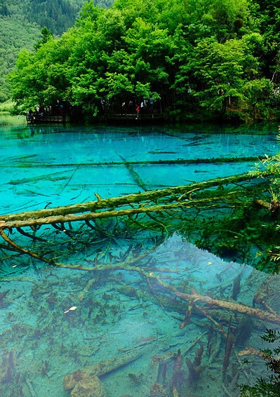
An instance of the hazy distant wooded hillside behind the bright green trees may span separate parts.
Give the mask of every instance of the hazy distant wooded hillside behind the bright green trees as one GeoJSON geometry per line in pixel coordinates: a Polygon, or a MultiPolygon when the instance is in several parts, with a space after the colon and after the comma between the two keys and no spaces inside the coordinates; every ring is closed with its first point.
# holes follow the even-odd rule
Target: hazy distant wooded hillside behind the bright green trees
{"type": "MultiPolygon", "coordinates": [[[[18,53],[32,50],[42,27],[60,36],[72,27],[84,0],[0,0],[0,103],[10,97],[6,75],[18,53]]],[[[97,1],[107,8],[112,0],[97,1]]]]}

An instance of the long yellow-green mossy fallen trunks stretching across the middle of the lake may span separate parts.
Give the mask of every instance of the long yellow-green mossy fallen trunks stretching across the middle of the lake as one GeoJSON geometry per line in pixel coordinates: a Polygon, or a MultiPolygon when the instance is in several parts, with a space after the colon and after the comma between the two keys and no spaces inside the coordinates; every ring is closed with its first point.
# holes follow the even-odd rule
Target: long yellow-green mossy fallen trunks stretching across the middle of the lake
{"type": "Polygon", "coordinates": [[[265,172],[259,173],[256,176],[253,176],[251,173],[246,173],[234,175],[232,177],[216,178],[214,180],[187,184],[184,186],[145,191],[138,194],[128,194],[127,196],[119,196],[115,198],[102,199],[100,196],[98,196],[98,194],[95,194],[98,199],[95,201],[88,201],[87,203],[77,203],[70,206],[60,206],[36,211],[26,211],[22,213],[2,215],[0,216],[0,229],[11,229],[14,227],[36,227],[42,224],[56,224],[83,220],[88,221],[95,218],[133,215],[137,213],[148,213],[152,211],[180,208],[183,206],[194,206],[196,205],[195,200],[185,201],[187,195],[191,194],[194,190],[198,191],[225,184],[234,184],[251,180],[257,176],[260,177],[265,175],[265,172]],[[175,201],[175,203],[156,203],[156,205],[151,205],[151,201],[155,203],[160,198],[168,196],[171,196],[170,202],[175,201]],[[139,207],[124,208],[124,206],[131,206],[133,204],[138,204],[139,207]],[[102,211],[94,212],[97,210],[102,211]]]}

